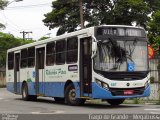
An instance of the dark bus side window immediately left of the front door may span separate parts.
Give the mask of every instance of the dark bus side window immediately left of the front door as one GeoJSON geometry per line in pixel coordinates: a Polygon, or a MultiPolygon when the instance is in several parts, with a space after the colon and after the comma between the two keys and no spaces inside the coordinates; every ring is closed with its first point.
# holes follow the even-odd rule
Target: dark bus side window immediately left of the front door
{"type": "Polygon", "coordinates": [[[78,38],[73,37],[67,39],[67,63],[76,63],[78,57],[78,38]]]}

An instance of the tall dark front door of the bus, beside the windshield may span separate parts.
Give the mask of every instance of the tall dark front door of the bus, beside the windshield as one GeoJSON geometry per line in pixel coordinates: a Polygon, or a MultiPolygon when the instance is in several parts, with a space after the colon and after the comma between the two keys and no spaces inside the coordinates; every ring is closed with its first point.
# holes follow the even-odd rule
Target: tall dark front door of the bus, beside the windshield
{"type": "Polygon", "coordinates": [[[91,37],[80,39],[80,85],[81,96],[92,93],[91,37]]]}

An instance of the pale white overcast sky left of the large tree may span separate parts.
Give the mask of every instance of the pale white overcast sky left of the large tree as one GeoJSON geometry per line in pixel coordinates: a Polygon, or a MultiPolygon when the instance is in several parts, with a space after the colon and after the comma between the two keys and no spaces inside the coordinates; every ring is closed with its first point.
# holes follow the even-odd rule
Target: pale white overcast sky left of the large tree
{"type": "Polygon", "coordinates": [[[1,32],[22,38],[20,32],[32,31],[26,37],[33,40],[38,40],[44,36],[56,36],[57,29],[49,30],[42,22],[45,18],[44,14],[52,11],[51,3],[54,0],[8,1],[10,1],[9,5],[4,10],[0,10],[0,23],[6,26],[6,29],[1,30],[1,32]]]}

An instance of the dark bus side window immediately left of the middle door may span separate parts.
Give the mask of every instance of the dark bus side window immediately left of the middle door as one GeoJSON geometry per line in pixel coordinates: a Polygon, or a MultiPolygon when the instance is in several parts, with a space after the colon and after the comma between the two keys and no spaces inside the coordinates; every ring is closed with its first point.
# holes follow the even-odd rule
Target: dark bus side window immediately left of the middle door
{"type": "Polygon", "coordinates": [[[35,47],[28,48],[28,67],[35,66],[35,47]]]}

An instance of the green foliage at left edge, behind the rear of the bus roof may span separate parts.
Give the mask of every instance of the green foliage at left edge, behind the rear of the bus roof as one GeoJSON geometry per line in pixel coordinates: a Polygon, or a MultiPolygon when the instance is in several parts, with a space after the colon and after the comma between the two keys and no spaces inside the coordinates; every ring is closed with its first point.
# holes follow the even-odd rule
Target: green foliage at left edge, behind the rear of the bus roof
{"type": "Polygon", "coordinates": [[[0,67],[5,67],[6,53],[8,49],[31,42],[33,41],[15,38],[11,34],[5,34],[0,32],[0,67]]]}

